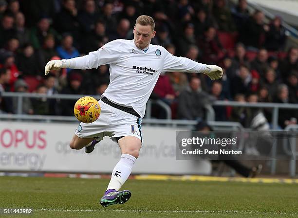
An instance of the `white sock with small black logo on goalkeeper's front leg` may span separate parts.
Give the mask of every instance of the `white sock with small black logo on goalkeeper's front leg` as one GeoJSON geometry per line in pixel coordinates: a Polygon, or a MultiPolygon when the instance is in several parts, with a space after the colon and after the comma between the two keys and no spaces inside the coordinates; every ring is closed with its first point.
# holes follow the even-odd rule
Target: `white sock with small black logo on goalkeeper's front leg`
{"type": "Polygon", "coordinates": [[[131,173],[131,168],[135,163],[136,158],[130,154],[122,154],[120,161],[115,165],[112,178],[107,190],[115,189],[118,191],[124,182],[128,179],[131,173]]]}

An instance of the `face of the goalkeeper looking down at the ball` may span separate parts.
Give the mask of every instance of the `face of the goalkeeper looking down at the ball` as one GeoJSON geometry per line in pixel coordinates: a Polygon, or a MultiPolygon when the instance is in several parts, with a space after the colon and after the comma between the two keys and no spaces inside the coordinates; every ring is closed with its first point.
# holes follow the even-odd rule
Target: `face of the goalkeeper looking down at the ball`
{"type": "Polygon", "coordinates": [[[133,40],[136,47],[145,49],[149,46],[151,39],[155,36],[155,31],[152,31],[151,26],[142,26],[136,24],[133,28],[133,40]]]}

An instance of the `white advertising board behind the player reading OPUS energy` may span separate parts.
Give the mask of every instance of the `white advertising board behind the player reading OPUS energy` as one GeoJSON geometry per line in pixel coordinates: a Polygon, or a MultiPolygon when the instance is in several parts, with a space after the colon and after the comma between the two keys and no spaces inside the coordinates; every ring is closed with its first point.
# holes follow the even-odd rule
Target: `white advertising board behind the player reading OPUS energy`
{"type": "MultiPolygon", "coordinates": [[[[0,121],[0,171],[111,173],[121,156],[118,145],[104,138],[94,151],[72,150],[77,124],[0,121]]],[[[143,145],[135,174],[210,174],[211,165],[177,161],[175,128],[142,127],[143,145]]]]}

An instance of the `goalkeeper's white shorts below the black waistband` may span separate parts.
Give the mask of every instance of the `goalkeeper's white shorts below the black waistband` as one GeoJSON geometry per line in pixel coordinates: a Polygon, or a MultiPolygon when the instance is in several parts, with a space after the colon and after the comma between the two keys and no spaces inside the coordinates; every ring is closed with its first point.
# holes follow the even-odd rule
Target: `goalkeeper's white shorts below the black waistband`
{"type": "Polygon", "coordinates": [[[130,113],[98,101],[100,105],[99,118],[93,123],[81,123],[75,130],[75,135],[80,138],[98,138],[102,140],[104,136],[112,139],[123,136],[135,136],[142,141],[141,123],[142,119],[130,113]]]}

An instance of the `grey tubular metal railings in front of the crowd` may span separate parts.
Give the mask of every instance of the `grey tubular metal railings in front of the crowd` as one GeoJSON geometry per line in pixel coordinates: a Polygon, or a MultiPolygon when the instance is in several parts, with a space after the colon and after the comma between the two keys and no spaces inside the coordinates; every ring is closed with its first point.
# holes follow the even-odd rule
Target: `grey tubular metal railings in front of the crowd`
{"type": "MultiPolygon", "coordinates": [[[[82,97],[82,95],[68,95],[68,94],[54,94],[54,95],[46,95],[46,94],[37,94],[37,93],[19,93],[19,92],[3,92],[3,97],[17,97],[18,98],[18,114],[0,114],[1,120],[17,120],[17,121],[38,121],[38,122],[46,122],[46,123],[55,123],[55,122],[77,122],[74,116],[46,116],[46,115],[27,115],[27,114],[21,114],[22,109],[22,101],[24,97],[30,97],[30,98],[50,98],[50,99],[78,99],[82,97]]],[[[98,96],[93,96],[98,99],[98,96]]],[[[162,102],[160,100],[157,100],[156,102],[162,102]]],[[[152,101],[149,100],[149,103],[147,104],[147,113],[150,111],[152,101]]],[[[157,103],[159,104],[159,103],[157,103]]],[[[232,102],[232,101],[215,101],[213,105],[216,106],[236,106],[236,107],[248,107],[248,108],[271,108],[273,109],[272,113],[272,129],[277,130],[278,127],[278,114],[279,109],[297,109],[298,104],[279,104],[279,103],[239,103],[239,102],[232,102]]],[[[197,121],[189,121],[189,120],[170,120],[171,117],[170,109],[168,105],[166,105],[164,102],[160,104],[161,107],[165,107],[165,111],[167,111],[167,119],[161,120],[161,119],[150,119],[150,112],[149,115],[145,115],[145,119],[143,119],[143,124],[148,126],[165,126],[165,127],[184,127],[186,129],[192,129],[193,126],[197,123],[197,121]],[[168,108],[167,108],[168,107],[168,108]]],[[[214,110],[211,106],[205,107],[207,111],[207,119],[208,123],[219,128],[230,128],[233,130],[242,129],[243,127],[239,123],[233,123],[233,122],[215,122],[215,114],[214,110]]],[[[284,149],[286,149],[284,147],[284,149]]],[[[272,150],[272,157],[274,157],[276,152],[276,147],[273,146],[272,150]]],[[[294,161],[295,163],[295,161],[294,161]]],[[[290,175],[293,175],[293,172],[295,174],[295,167],[294,164],[290,164],[290,175]]],[[[276,172],[276,160],[273,160],[271,163],[271,174],[274,175],[276,172]]]]}

